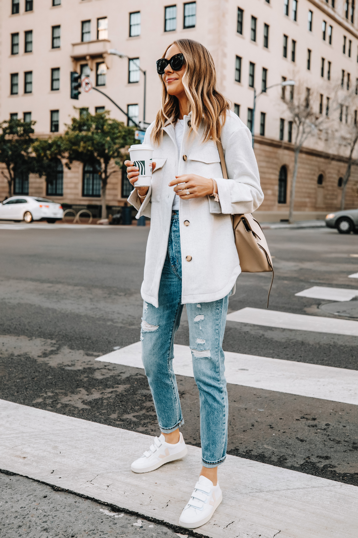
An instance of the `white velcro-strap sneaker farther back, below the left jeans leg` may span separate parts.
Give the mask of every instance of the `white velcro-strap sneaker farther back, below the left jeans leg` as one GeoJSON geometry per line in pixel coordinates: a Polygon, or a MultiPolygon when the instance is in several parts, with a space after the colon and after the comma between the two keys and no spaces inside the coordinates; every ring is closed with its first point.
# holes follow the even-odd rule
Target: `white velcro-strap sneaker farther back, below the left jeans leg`
{"type": "Polygon", "coordinates": [[[155,437],[149,450],[145,451],[143,456],[136,459],[130,466],[133,472],[149,472],[158,469],[164,463],[173,462],[174,459],[180,459],[187,455],[188,449],[185,446],[184,439],[180,433],[179,442],[170,444],[165,442],[164,435],[155,437]]]}

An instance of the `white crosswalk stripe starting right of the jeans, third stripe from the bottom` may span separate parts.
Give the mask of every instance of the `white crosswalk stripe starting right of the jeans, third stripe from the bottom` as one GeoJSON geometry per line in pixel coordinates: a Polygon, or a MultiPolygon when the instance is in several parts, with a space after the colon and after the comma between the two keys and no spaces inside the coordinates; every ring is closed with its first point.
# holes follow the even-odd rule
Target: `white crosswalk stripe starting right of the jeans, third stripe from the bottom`
{"type": "Polygon", "coordinates": [[[290,314],[289,312],[277,312],[277,310],[264,310],[263,308],[242,308],[241,310],[237,310],[237,312],[228,314],[227,321],[252,323],[253,325],[263,325],[264,327],[277,327],[281,329],[358,336],[358,321],[338,320],[337,318],[322,316],[305,316],[303,314],[290,314]]]}

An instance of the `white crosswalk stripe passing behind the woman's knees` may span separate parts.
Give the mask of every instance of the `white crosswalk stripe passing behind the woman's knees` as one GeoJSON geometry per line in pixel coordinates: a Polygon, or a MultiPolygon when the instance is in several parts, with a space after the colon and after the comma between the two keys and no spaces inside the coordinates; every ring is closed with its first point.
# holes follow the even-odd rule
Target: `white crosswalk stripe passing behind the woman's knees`
{"type": "MultiPolygon", "coordinates": [[[[141,342],[96,360],[143,368],[141,342]]],[[[173,368],[178,376],[194,377],[189,346],[174,344],[173,368]]],[[[357,370],[225,351],[225,377],[233,385],[358,405],[357,370]]]]}

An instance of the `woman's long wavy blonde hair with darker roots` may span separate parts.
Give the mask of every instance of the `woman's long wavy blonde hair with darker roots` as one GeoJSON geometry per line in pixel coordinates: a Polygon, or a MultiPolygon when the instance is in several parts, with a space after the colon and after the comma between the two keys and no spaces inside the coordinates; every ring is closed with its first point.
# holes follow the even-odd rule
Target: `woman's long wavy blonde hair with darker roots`
{"type": "MultiPolygon", "coordinates": [[[[216,89],[216,71],[213,57],[206,47],[192,39],[178,39],[166,48],[167,50],[177,45],[184,55],[185,73],[182,83],[189,102],[189,112],[192,112],[192,132],[198,133],[200,124],[204,121],[203,142],[210,138],[215,142],[220,138],[222,126],[225,123],[226,111],[231,103],[216,89]]],[[[160,144],[163,138],[163,127],[166,121],[176,123],[179,117],[179,102],[174,95],[169,95],[162,75],[162,107],[158,111],[154,128],[151,132],[151,140],[154,144],[160,144]]]]}

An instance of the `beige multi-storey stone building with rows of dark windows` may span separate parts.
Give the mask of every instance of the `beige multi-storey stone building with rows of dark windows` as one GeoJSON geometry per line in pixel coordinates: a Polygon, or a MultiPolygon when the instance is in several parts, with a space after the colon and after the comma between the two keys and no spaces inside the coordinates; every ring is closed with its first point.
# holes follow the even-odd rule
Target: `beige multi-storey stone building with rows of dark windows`
{"type": "MultiPolygon", "coordinates": [[[[145,121],[151,122],[160,105],[155,61],[175,39],[198,40],[213,55],[218,88],[245,124],[250,126],[252,121],[253,88],[259,94],[265,86],[278,85],[258,98],[254,133],[265,193],[259,216],[262,220],[284,219],[294,152],[279,84],[282,77],[299,80],[316,88],[324,102],[341,77],[345,87],[355,84],[355,4],[352,0],[197,0],[177,4],[164,0],[3,0],[0,119],[11,114],[30,119],[31,112],[35,133],[42,137],[63,132],[64,124],[78,114],[74,105],[92,114],[96,109],[109,110],[112,117],[127,123],[127,117],[97,91],[82,93],[78,101],[70,99],[70,72],[76,70],[89,75],[94,86],[136,122],[142,121],[144,77],[140,66],[147,79],[145,121]],[[109,55],[109,48],[124,57],[109,55]]],[[[299,156],[296,218],[322,217],[339,208],[345,161],[344,154],[334,148],[328,151],[322,141],[306,143],[299,156]]],[[[63,167],[62,192],[59,174],[57,192],[46,189],[45,179],[30,175],[28,193],[70,204],[100,203],[98,189],[95,195],[85,192],[85,176],[90,178],[91,172],[82,165],[74,164],[71,170],[63,167]]],[[[118,170],[109,179],[108,206],[123,204],[127,193],[128,182],[118,170]]],[[[0,175],[0,199],[6,195],[7,184],[0,175]]],[[[346,207],[357,206],[358,171],[354,166],[346,207]]]]}

